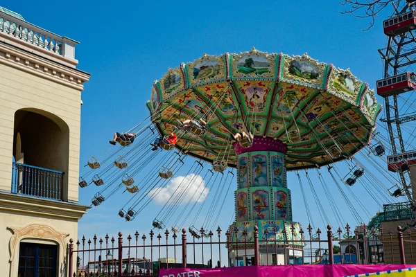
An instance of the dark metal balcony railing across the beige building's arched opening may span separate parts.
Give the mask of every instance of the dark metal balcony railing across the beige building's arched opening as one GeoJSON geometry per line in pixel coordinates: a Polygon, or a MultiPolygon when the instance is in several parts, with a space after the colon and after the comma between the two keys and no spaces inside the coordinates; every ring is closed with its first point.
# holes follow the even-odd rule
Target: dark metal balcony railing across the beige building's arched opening
{"type": "Polygon", "coordinates": [[[64,172],[22,163],[12,165],[12,193],[62,200],[64,172]]]}

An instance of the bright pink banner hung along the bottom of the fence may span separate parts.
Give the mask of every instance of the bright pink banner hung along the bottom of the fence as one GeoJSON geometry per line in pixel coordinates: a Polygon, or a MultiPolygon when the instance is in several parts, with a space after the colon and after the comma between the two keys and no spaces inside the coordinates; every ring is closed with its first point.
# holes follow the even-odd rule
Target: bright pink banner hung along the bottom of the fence
{"type": "Polygon", "coordinates": [[[416,265],[279,265],[214,269],[160,269],[159,277],[416,276],[416,265]]]}

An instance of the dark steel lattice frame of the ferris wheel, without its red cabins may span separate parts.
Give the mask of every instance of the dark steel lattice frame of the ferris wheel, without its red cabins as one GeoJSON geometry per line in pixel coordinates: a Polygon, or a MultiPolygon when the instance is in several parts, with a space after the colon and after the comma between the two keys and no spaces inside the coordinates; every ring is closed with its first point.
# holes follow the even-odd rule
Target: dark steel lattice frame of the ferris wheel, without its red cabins
{"type": "MultiPolygon", "coordinates": [[[[400,11],[397,10],[397,7],[395,7],[394,3],[392,3],[393,8],[395,9],[394,15],[400,15],[406,10],[411,10],[411,6],[406,3],[406,6],[402,8],[400,11]]],[[[383,53],[384,49],[379,49],[379,53],[381,55],[381,59],[384,63],[384,69],[383,69],[383,78],[389,78],[391,76],[397,75],[401,73],[399,69],[407,68],[407,66],[410,66],[412,64],[416,63],[416,47],[412,50],[408,51],[407,49],[404,49],[404,46],[408,44],[415,43],[416,45],[416,37],[413,33],[413,30],[410,30],[406,33],[400,34],[400,35],[392,35],[388,37],[388,44],[385,48],[385,53],[383,53]],[[397,39],[399,38],[399,39],[397,39]],[[401,53],[404,51],[404,53],[401,53]]],[[[405,70],[406,71],[406,70],[405,70]]],[[[413,71],[413,70],[412,70],[413,71]]],[[[408,91],[410,92],[410,91],[408,91]]],[[[388,96],[384,98],[385,103],[385,119],[381,118],[381,121],[386,123],[388,127],[388,135],[390,138],[390,145],[392,149],[392,154],[399,154],[397,150],[396,145],[396,139],[399,141],[399,151],[400,152],[406,152],[405,143],[403,139],[403,135],[401,132],[401,124],[407,123],[413,120],[416,120],[416,111],[413,112],[413,114],[399,114],[399,104],[397,100],[397,95],[388,96]],[[392,98],[392,104],[390,105],[390,98],[392,98]],[[394,114],[394,117],[392,117],[392,114],[394,114]],[[397,134],[395,134],[393,130],[392,124],[396,125],[397,134]]],[[[413,199],[413,195],[409,192],[409,189],[411,189],[411,186],[409,188],[406,177],[404,175],[404,172],[398,171],[402,190],[406,193],[406,196],[408,197],[409,202],[411,202],[413,205],[416,206],[415,199],[413,199]]],[[[408,175],[410,177],[410,172],[408,171],[408,175]]]]}

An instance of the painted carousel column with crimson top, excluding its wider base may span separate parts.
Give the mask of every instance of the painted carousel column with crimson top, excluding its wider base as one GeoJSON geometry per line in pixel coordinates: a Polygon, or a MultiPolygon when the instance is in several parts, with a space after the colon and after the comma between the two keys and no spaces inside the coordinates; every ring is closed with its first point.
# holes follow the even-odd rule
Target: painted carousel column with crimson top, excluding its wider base
{"type": "Polygon", "coordinates": [[[234,143],[238,157],[236,222],[292,220],[291,192],[286,183],[287,145],[255,136],[249,148],[234,143]]]}

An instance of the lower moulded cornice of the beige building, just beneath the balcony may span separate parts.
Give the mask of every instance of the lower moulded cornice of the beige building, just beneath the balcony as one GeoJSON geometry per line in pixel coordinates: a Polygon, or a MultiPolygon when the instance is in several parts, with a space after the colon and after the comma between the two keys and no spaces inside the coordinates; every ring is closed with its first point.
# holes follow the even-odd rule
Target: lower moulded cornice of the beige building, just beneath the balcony
{"type": "Polygon", "coordinates": [[[0,211],[80,220],[90,206],[0,192],[0,211]]]}

